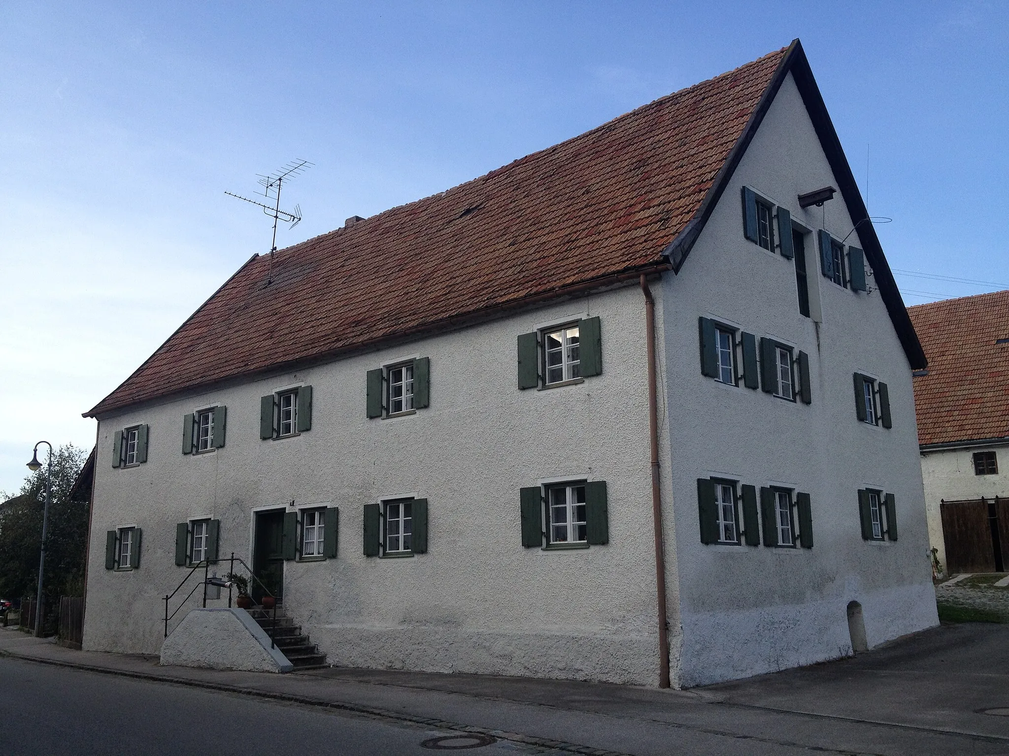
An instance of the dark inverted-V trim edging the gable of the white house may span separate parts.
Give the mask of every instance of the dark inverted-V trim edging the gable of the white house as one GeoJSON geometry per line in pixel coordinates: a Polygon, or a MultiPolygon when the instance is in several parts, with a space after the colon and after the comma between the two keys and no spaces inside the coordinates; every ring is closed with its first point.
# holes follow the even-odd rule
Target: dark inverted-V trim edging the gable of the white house
{"type": "Polygon", "coordinates": [[[848,206],[852,223],[858,229],[859,239],[862,240],[862,246],[865,248],[866,258],[873,269],[876,286],[880,291],[880,296],[882,296],[884,304],[886,304],[887,312],[890,313],[890,320],[893,322],[897,338],[900,339],[900,344],[904,348],[904,354],[907,355],[907,360],[912,369],[922,370],[928,366],[928,360],[925,358],[925,352],[918,341],[918,335],[914,333],[914,326],[911,325],[911,319],[907,314],[907,307],[904,305],[904,300],[897,289],[897,282],[893,278],[893,272],[890,270],[890,266],[883,254],[883,247],[876,236],[876,229],[873,228],[873,224],[869,220],[869,212],[866,210],[866,205],[862,200],[862,193],[859,192],[859,185],[855,180],[855,175],[852,173],[852,167],[849,165],[848,158],[845,156],[845,150],[840,146],[840,139],[837,138],[833,122],[830,120],[830,115],[827,113],[826,105],[823,103],[819,87],[816,86],[816,80],[813,78],[812,69],[809,68],[809,60],[806,58],[806,53],[802,49],[802,43],[798,39],[793,39],[792,43],[788,46],[788,51],[778,65],[771,83],[768,85],[757,108],[750,116],[750,121],[747,123],[746,128],[744,128],[739,140],[728,153],[724,165],[721,166],[721,170],[715,175],[714,183],[708,190],[707,195],[697,209],[697,213],[690,219],[676,239],[670,243],[664,254],[672,261],[673,271],[679,273],[683,262],[697,241],[697,237],[711,216],[714,206],[721,199],[725,186],[728,185],[728,181],[736,171],[743,153],[746,152],[747,147],[750,146],[750,142],[753,141],[757,129],[764,120],[764,116],[767,115],[771,103],[774,101],[778,90],[781,89],[781,85],[789,73],[791,73],[792,78],[795,80],[795,85],[802,96],[802,102],[806,106],[809,120],[812,121],[813,128],[819,137],[820,145],[823,147],[827,162],[829,162],[830,169],[833,171],[834,178],[837,181],[840,195],[848,206]]]}

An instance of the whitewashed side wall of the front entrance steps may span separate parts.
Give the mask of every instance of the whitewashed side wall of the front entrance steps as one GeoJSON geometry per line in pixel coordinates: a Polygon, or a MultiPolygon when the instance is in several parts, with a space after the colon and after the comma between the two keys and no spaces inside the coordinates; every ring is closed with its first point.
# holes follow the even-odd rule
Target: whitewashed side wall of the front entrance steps
{"type": "Polygon", "coordinates": [[[290,672],[294,665],[244,609],[194,609],[161,644],[162,666],[290,672]]]}

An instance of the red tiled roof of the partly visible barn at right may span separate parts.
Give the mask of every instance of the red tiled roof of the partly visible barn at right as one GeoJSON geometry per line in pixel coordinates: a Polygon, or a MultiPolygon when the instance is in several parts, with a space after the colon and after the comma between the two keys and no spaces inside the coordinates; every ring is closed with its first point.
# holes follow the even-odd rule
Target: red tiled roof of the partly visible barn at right
{"type": "Polygon", "coordinates": [[[1009,291],[907,308],[928,357],[914,378],[918,444],[1009,436],[1009,291]]]}

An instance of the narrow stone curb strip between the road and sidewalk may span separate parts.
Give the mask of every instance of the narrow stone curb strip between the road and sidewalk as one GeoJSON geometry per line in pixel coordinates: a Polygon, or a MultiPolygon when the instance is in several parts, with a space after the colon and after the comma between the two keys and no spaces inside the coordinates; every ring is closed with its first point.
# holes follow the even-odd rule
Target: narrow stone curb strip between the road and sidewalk
{"type": "Polygon", "coordinates": [[[325,701],[323,699],[313,699],[307,696],[297,696],[295,694],[271,692],[268,690],[257,690],[255,688],[250,688],[250,687],[241,687],[239,685],[228,685],[221,682],[211,682],[208,680],[195,680],[187,677],[174,677],[169,674],[136,672],[129,669],[115,669],[112,667],[95,666],[93,664],[80,664],[70,661],[60,661],[57,659],[46,659],[38,656],[31,656],[28,654],[17,653],[16,651],[10,651],[7,649],[0,649],[0,657],[19,659],[21,661],[33,661],[38,664],[62,666],[70,669],[81,669],[88,672],[97,672],[99,674],[113,674],[120,677],[132,677],[134,679],[143,679],[153,682],[169,682],[177,685],[188,685],[190,687],[199,687],[207,690],[217,690],[219,692],[238,694],[240,696],[248,696],[251,698],[284,702],[286,704],[301,704],[303,706],[310,706],[318,709],[329,709],[334,711],[349,712],[351,714],[370,717],[373,719],[391,720],[394,722],[404,722],[412,725],[423,725],[425,727],[431,727],[437,730],[446,730],[449,732],[486,735],[495,740],[507,740],[513,743],[522,743],[523,745],[536,746],[538,748],[561,751],[564,753],[582,754],[583,756],[632,756],[632,754],[628,754],[623,751],[608,751],[601,748],[592,748],[590,746],[582,746],[575,743],[566,743],[558,740],[550,740],[549,738],[537,738],[531,735],[523,735],[522,733],[512,733],[503,730],[491,730],[485,727],[474,727],[472,725],[463,725],[458,722],[449,722],[447,720],[440,720],[430,717],[417,717],[410,714],[404,714],[402,712],[390,712],[385,709],[377,709],[374,707],[325,701]]]}

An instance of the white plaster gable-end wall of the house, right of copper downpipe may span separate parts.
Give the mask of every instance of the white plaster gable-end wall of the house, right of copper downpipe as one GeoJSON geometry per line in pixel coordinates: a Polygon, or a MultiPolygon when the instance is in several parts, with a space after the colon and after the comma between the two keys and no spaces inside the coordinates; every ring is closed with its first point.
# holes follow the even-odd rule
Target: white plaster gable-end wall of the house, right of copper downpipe
{"type": "MultiPolygon", "coordinates": [[[[663,290],[684,686],[852,653],[850,601],[863,606],[870,647],[938,621],[910,367],[884,302],[821,276],[812,233],[806,267],[818,322],[801,316],[794,263],[744,237],[744,184],[812,232],[852,231],[839,195],[822,208],[798,206],[799,194],[837,183],[790,76],[663,290]],[[701,316],[808,353],[812,404],[704,377],[701,316]],[[857,419],[856,371],[889,384],[891,429],[857,419]],[[696,479],[712,476],[809,493],[814,547],[701,544],[696,479]],[[867,486],[895,494],[898,541],[862,539],[857,490],[867,486]]],[[[858,245],[857,236],[846,244],[858,245]]]]}

